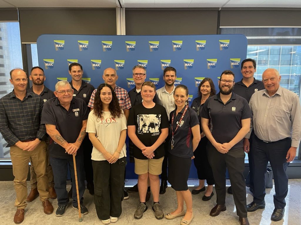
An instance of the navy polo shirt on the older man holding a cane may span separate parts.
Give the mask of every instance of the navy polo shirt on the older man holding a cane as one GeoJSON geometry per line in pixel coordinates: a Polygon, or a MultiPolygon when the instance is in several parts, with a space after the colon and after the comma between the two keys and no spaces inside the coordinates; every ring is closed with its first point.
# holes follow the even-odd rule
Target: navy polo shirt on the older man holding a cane
{"type": "MultiPolygon", "coordinates": [[[[67,143],[75,143],[82,129],[82,121],[87,120],[88,115],[88,107],[80,98],[72,98],[68,111],[61,106],[58,98],[51,98],[44,104],[41,124],[55,125],[67,143]]],[[[49,144],[49,154],[54,158],[72,157],[52,139],[49,144]]],[[[82,154],[81,148],[77,151],[77,155],[79,154],[82,154]]]]}

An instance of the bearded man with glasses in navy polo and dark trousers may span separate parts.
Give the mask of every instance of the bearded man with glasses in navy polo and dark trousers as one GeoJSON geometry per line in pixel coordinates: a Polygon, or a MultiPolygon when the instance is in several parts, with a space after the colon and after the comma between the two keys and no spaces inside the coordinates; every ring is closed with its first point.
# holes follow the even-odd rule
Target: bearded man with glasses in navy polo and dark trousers
{"type": "Polygon", "coordinates": [[[227,209],[225,173],[228,168],[240,224],[249,225],[243,138],[250,130],[252,113],[247,100],[232,92],[234,83],[234,73],[223,71],[219,80],[220,92],[206,100],[201,112],[203,132],[210,141],[207,145],[208,161],[216,190],[217,205],[212,208],[210,216],[217,216],[227,209]]]}

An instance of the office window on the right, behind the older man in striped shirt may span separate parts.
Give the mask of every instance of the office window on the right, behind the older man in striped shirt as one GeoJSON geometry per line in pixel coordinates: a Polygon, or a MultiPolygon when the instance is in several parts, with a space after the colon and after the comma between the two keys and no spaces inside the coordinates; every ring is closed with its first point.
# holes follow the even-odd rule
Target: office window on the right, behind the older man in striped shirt
{"type": "MultiPolygon", "coordinates": [[[[281,87],[295,92],[301,100],[301,27],[221,27],[221,34],[245,35],[248,39],[247,58],[253,58],[257,63],[254,77],[261,80],[263,71],[275,68],[281,75],[281,87]]],[[[296,158],[298,155],[299,148],[296,158]]]]}

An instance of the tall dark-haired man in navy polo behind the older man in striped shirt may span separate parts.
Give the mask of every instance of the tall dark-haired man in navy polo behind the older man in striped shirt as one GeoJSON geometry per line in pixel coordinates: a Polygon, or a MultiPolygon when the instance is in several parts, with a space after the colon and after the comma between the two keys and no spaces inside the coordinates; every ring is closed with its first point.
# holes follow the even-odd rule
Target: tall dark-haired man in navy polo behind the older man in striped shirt
{"type": "MultiPolygon", "coordinates": [[[[256,92],[264,89],[264,85],[262,81],[256,80],[254,78],[254,73],[256,72],[256,61],[252,58],[247,58],[241,62],[241,74],[243,78],[241,81],[235,83],[233,88],[233,92],[236,95],[239,95],[245,98],[248,103],[250,102],[251,96],[256,92]]],[[[251,136],[253,136],[254,132],[251,136]]],[[[251,140],[251,139],[250,139],[251,140]]],[[[252,141],[251,141],[252,143],[252,141]]],[[[246,185],[250,187],[250,191],[254,192],[254,183],[253,183],[253,167],[252,167],[252,151],[250,149],[244,149],[244,151],[248,154],[249,159],[249,170],[250,173],[246,178],[246,185]]],[[[228,188],[228,193],[232,194],[231,186],[228,188]]]]}

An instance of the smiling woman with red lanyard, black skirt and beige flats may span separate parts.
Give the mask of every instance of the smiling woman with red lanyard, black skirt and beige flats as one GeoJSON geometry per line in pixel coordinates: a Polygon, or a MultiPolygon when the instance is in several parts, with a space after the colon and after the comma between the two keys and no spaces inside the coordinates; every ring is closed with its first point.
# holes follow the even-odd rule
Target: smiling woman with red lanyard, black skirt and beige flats
{"type": "Polygon", "coordinates": [[[200,142],[200,122],[197,113],[188,106],[188,88],[178,85],[173,97],[175,110],[170,113],[168,182],[176,190],[178,207],[175,211],[165,215],[166,219],[184,216],[181,225],[188,225],[194,217],[192,211],[192,195],[188,190],[187,180],[191,167],[193,152],[200,142]],[[181,166],[179,166],[181,165],[181,166]],[[186,204],[186,213],[184,210],[186,204]]]}

